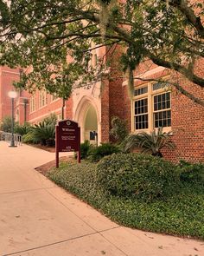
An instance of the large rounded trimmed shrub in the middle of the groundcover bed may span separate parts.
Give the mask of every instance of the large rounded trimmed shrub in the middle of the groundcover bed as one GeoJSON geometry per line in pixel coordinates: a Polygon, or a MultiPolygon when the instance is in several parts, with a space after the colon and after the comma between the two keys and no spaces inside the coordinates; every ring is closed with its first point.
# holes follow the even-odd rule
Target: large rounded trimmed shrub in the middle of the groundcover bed
{"type": "Polygon", "coordinates": [[[112,154],[99,161],[97,181],[111,194],[153,200],[172,194],[179,174],[174,164],[148,154],[112,154]]]}

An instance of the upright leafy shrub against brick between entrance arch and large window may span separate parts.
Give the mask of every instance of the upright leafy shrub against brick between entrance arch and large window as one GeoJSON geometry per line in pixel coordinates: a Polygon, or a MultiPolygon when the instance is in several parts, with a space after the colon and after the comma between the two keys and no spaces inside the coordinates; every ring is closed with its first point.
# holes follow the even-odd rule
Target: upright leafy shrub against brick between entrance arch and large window
{"type": "Polygon", "coordinates": [[[112,117],[112,129],[110,135],[118,142],[124,141],[124,138],[128,135],[128,129],[126,121],[120,119],[118,116],[112,117]]]}

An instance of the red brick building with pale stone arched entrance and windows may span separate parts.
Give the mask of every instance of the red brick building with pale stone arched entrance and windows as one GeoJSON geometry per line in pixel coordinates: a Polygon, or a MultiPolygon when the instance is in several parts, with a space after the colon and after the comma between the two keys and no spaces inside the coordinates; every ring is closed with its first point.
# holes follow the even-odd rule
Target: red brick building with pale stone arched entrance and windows
{"type": "MultiPolygon", "coordinates": [[[[105,49],[96,49],[93,58],[104,53],[105,49]]],[[[89,140],[90,132],[95,131],[100,143],[110,140],[110,121],[112,116],[118,115],[127,121],[131,133],[150,132],[159,126],[163,126],[165,131],[172,130],[176,149],[163,151],[169,160],[204,162],[204,108],[170,88],[168,81],[179,82],[203,100],[204,89],[188,82],[182,75],[146,61],[135,71],[140,79],[135,80],[135,91],[131,94],[127,81],[109,79],[121,77],[121,74],[116,75],[115,63],[114,69],[109,69],[109,74],[104,74],[102,81],[92,84],[90,89],[74,89],[66,102],[45,91],[37,91],[35,95],[20,92],[16,99],[16,121],[37,123],[50,113],[55,113],[59,120],[64,115],[65,119],[79,122],[82,141],[89,140]],[[167,86],[142,80],[152,78],[162,78],[167,81],[167,86]]],[[[202,65],[203,61],[200,61],[196,66],[199,75],[204,75],[202,65]]],[[[18,70],[1,68],[0,120],[3,115],[10,114],[6,90],[11,89],[11,81],[16,79],[19,79],[18,70]]]]}

